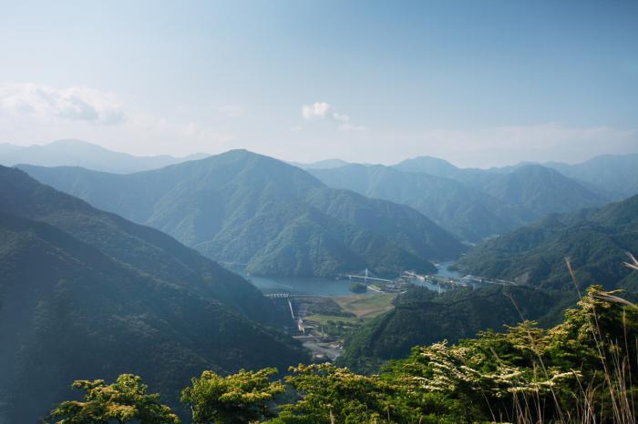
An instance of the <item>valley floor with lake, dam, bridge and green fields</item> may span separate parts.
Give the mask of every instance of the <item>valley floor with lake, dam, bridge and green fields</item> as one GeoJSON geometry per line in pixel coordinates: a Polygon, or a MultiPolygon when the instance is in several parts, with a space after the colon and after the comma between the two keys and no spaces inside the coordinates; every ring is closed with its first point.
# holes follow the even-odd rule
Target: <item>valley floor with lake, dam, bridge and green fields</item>
{"type": "Polygon", "coordinates": [[[327,278],[265,278],[251,277],[245,268],[231,268],[264,296],[270,298],[282,315],[289,318],[286,333],[301,341],[315,360],[335,360],[344,351],[345,340],[362,326],[395,307],[398,296],[411,288],[426,288],[435,293],[462,288],[516,286],[503,280],[465,276],[454,269],[454,262],[436,264],[437,273],[418,275],[404,271],[398,278],[375,278],[369,272],[327,278]],[[353,293],[352,281],[365,287],[363,293],[353,293]]]}

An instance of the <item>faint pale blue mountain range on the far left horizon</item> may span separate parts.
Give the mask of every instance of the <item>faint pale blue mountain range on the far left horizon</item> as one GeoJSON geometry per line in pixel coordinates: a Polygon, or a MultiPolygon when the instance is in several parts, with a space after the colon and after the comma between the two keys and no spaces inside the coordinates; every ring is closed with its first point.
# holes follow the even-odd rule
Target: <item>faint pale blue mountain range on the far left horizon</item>
{"type": "Polygon", "coordinates": [[[204,153],[185,157],[132,156],[81,140],[58,140],[43,146],[0,144],[0,165],[5,167],[18,164],[42,167],[86,167],[116,174],[156,169],[206,156],[208,155],[204,153]]]}

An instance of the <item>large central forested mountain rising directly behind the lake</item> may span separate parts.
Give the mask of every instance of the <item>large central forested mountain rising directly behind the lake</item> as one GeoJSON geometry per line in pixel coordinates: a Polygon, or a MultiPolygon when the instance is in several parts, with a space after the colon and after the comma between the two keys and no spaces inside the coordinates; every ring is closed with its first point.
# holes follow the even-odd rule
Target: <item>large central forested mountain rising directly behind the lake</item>
{"type": "Polygon", "coordinates": [[[325,187],[302,169],[233,150],[130,175],[23,166],[41,182],[252,274],[333,277],[434,271],[458,257],[448,232],[402,205],[325,187]]]}

